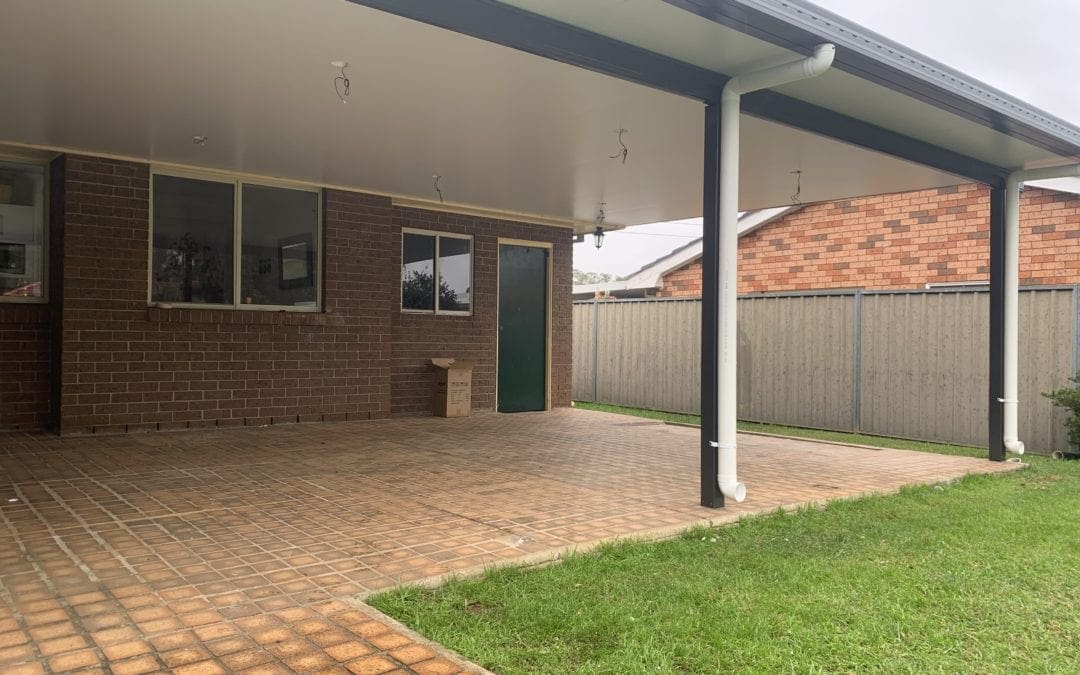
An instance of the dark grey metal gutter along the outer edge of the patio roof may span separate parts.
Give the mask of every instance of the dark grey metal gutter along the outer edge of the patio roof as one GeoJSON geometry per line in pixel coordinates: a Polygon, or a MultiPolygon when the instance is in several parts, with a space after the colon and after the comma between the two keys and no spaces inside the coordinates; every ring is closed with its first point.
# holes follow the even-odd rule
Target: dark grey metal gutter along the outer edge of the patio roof
{"type": "Polygon", "coordinates": [[[1064,158],[1080,159],[1080,129],[801,0],[664,0],[797,53],[837,45],[834,67],[1064,158]],[[1022,116],[1027,119],[1020,119],[1022,116]]]}

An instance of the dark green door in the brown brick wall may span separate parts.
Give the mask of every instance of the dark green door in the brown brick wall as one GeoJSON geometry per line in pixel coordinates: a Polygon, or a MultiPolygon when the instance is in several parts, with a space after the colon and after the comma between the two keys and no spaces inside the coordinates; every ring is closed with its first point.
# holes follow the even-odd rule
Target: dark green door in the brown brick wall
{"type": "Polygon", "coordinates": [[[499,246],[499,411],[546,408],[548,249],[499,246]]]}

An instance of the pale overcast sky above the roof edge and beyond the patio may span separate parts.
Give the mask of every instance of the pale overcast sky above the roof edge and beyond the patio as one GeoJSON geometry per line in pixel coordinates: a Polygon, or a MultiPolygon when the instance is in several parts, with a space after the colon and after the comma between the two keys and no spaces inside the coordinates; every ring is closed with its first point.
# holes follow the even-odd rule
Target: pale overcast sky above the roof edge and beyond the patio
{"type": "MultiPolygon", "coordinates": [[[[826,10],[1080,124],[1080,0],[814,0],[826,10]]],[[[625,275],[700,235],[698,224],[576,244],[577,269],[625,275]]]]}

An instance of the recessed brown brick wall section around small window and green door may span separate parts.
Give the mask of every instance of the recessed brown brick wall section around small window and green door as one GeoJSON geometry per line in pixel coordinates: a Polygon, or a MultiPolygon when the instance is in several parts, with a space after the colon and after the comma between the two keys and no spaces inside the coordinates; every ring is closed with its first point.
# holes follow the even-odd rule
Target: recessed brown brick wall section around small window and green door
{"type": "MultiPolygon", "coordinates": [[[[473,313],[471,316],[413,314],[393,311],[391,410],[431,410],[432,357],[472,361],[473,407],[494,409],[498,341],[499,238],[554,244],[552,280],[552,405],[570,404],[570,327],[572,235],[569,230],[456,214],[395,208],[394,225],[473,237],[473,313]]],[[[401,248],[394,252],[401,265],[401,248]]],[[[395,268],[395,269],[400,269],[395,268]]],[[[396,292],[396,288],[395,288],[396,292]]],[[[396,296],[395,296],[396,301],[396,296]]],[[[397,307],[394,307],[396,310],[397,307]]]]}

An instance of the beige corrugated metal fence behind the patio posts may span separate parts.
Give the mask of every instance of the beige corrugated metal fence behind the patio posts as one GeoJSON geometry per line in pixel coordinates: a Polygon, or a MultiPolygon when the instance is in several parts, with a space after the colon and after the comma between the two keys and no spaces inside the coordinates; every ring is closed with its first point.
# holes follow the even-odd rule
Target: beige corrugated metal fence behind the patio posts
{"type": "MultiPolygon", "coordinates": [[[[1020,432],[1067,450],[1041,394],[1080,370],[1080,287],[1021,292],[1020,432]]],[[[986,444],[984,291],[848,292],[739,300],[740,419],[986,444]]],[[[573,397],[700,409],[700,300],[579,301],[573,397]]]]}

